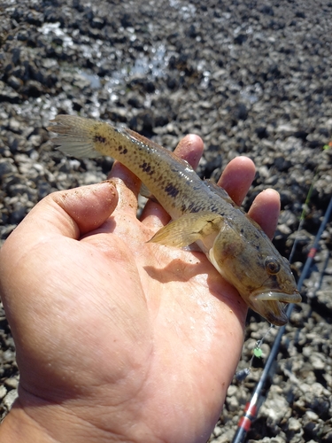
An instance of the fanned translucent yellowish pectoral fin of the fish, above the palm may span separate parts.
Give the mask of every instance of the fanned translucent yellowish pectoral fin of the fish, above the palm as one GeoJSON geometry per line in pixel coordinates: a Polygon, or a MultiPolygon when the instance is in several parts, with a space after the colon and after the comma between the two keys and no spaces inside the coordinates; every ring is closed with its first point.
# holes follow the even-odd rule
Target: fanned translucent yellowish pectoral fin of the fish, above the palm
{"type": "Polygon", "coordinates": [[[184,214],[159,229],[150,242],[175,247],[188,246],[220,232],[222,221],[221,215],[210,212],[184,214]]]}

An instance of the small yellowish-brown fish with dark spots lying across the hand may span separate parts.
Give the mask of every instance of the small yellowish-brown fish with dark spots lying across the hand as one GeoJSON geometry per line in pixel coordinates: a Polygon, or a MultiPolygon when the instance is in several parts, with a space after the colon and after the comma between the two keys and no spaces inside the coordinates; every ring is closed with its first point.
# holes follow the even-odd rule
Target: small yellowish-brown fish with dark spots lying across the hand
{"type": "Polygon", "coordinates": [[[251,309],[277,326],[288,322],[285,305],[301,301],[290,263],[226,190],[201,180],[187,161],[129,128],[64,114],[50,123],[60,151],[119,160],[164,207],[172,221],[150,242],[195,244],[251,309]]]}

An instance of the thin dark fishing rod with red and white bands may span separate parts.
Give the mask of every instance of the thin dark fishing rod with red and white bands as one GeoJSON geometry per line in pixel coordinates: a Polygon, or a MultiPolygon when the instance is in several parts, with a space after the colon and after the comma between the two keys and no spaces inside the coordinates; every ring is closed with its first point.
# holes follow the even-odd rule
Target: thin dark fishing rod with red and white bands
{"type": "MultiPolygon", "coordinates": [[[[326,210],[326,213],[324,215],[323,220],[320,223],[320,229],[317,232],[317,235],[314,239],[313,246],[311,247],[309,253],[307,254],[306,260],[305,260],[305,267],[303,268],[300,278],[298,279],[297,283],[297,289],[298,291],[301,290],[302,284],[305,281],[306,276],[309,273],[309,269],[313,263],[313,258],[317,253],[318,244],[320,241],[321,234],[323,233],[328,220],[329,216],[332,212],[332,197],[329,200],[328,209],[326,210]]],[[[286,314],[288,317],[290,317],[290,314],[293,310],[294,304],[290,303],[290,305],[287,307],[286,314]]],[[[274,338],[274,344],[271,348],[271,352],[266,360],[265,368],[263,369],[262,376],[260,377],[259,383],[256,385],[254,392],[251,395],[251,400],[246,404],[244,409],[244,414],[240,418],[239,423],[237,424],[237,430],[235,432],[235,436],[232,443],[243,443],[248,431],[251,429],[251,424],[255,420],[256,416],[259,413],[259,408],[262,404],[262,390],[266,384],[266,378],[268,377],[271,367],[274,363],[274,360],[279,352],[279,346],[282,341],[282,335],[285,331],[286,325],[283,325],[279,330],[274,338]]]]}

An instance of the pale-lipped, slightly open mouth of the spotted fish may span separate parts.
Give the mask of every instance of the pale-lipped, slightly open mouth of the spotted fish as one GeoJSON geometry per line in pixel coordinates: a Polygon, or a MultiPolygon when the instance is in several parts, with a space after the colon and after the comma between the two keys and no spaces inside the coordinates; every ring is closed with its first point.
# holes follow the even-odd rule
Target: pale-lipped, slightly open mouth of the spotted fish
{"type": "Polygon", "coordinates": [[[284,292],[260,292],[251,294],[251,307],[266,318],[269,323],[283,326],[288,323],[288,317],[284,311],[286,304],[299,303],[301,295],[296,290],[292,294],[284,292]]]}

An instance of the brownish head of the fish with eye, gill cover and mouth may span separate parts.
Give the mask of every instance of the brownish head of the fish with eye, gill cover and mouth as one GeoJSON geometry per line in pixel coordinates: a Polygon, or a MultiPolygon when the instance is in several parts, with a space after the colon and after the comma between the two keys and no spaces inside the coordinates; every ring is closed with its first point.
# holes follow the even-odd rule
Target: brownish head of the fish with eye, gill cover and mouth
{"type": "Polygon", "coordinates": [[[239,229],[226,223],[214,240],[209,258],[249,307],[269,323],[286,324],[285,304],[301,301],[290,263],[259,225],[247,220],[249,224],[239,229]]]}

